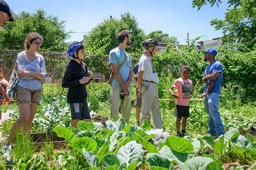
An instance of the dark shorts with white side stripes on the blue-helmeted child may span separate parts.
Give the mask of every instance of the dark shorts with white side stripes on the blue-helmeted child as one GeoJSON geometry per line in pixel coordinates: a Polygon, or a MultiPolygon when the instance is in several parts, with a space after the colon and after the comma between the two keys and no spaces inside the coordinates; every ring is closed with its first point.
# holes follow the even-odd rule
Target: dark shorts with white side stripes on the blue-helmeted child
{"type": "Polygon", "coordinates": [[[71,119],[91,119],[88,104],[84,103],[70,103],[71,119]]]}

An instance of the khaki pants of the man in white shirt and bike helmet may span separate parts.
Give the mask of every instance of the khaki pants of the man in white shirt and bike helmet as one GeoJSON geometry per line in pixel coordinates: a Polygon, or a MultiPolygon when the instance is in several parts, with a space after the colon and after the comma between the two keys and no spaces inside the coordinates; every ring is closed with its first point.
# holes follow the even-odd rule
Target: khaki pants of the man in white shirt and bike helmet
{"type": "Polygon", "coordinates": [[[142,83],[142,116],[140,124],[143,120],[149,118],[153,122],[154,129],[162,129],[161,111],[159,109],[159,96],[157,91],[157,83],[143,81],[142,83]]]}

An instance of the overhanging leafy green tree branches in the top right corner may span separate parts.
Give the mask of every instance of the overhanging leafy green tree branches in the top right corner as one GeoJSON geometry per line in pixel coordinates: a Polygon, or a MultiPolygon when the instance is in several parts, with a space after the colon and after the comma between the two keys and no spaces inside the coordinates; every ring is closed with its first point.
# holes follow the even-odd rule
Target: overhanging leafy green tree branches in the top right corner
{"type": "MultiPolygon", "coordinates": [[[[221,3],[221,0],[193,0],[193,8],[201,9],[203,5],[209,3],[211,6],[221,3]]],[[[224,20],[212,19],[211,25],[215,30],[222,30],[224,44],[232,43],[238,40],[248,48],[255,48],[256,34],[256,2],[255,0],[229,0],[224,20]]]]}

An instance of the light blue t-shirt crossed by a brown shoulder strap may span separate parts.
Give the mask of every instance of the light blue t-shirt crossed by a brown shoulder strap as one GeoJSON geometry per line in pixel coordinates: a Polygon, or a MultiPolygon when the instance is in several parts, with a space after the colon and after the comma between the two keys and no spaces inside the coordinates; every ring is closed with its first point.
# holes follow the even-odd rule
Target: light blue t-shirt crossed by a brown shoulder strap
{"type": "MultiPolygon", "coordinates": [[[[119,47],[112,49],[109,53],[109,63],[117,63],[117,65],[119,66],[124,61],[125,53],[126,52],[124,51],[124,49],[120,49],[119,47]]],[[[132,59],[131,59],[131,56],[128,54],[124,65],[119,70],[119,73],[123,81],[127,81],[129,79],[131,67],[132,67],[132,59]]],[[[111,85],[119,88],[122,87],[121,84],[118,83],[116,77],[114,77],[111,85]]],[[[129,87],[130,86],[131,84],[129,85],[129,87]]]]}

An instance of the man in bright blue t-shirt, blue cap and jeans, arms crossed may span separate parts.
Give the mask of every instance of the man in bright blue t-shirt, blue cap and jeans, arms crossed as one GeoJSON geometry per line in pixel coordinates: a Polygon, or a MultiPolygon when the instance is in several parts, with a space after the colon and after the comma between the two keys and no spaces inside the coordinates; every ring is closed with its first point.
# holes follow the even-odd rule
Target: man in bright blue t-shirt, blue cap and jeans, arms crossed
{"type": "Polygon", "coordinates": [[[221,80],[223,77],[223,66],[219,61],[215,60],[215,56],[217,55],[216,49],[208,48],[203,53],[205,55],[205,61],[209,61],[210,65],[206,67],[202,79],[203,83],[205,83],[204,93],[200,94],[198,98],[204,97],[205,110],[209,115],[208,126],[210,134],[219,137],[221,134],[225,133],[219,113],[219,97],[221,80]]]}

